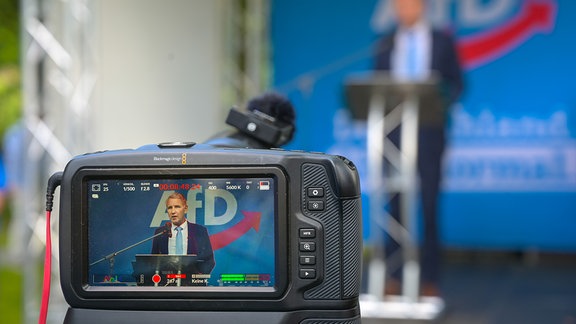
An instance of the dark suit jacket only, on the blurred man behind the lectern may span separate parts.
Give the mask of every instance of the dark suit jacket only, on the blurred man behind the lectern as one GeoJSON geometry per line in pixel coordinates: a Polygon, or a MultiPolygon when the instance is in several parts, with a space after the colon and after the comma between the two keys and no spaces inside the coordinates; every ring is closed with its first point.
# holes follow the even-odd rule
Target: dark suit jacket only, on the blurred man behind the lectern
{"type": "MultiPolygon", "coordinates": [[[[452,104],[462,93],[464,82],[462,68],[458,59],[458,53],[454,38],[444,30],[431,29],[432,53],[430,68],[440,75],[441,91],[447,103],[452,104]]],[[[384,36],[376,47],[375,69],[391,70],[390,58],[394,49],[394,37],[396,29],[384,36]]]]}

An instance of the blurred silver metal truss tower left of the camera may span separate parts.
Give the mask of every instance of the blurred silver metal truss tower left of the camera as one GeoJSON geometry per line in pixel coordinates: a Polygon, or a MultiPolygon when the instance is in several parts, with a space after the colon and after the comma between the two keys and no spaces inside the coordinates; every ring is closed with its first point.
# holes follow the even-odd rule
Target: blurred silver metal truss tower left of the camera
{"type": "MultiPolygon", "coordinates": [[[[89,150],[88,117],[95,82],[90,0],[22,0],[23,188],[15,197],[10,251],[22,256],[24,322],[39,315],[40,271],[46,237],[45,192],[52,172],[89,150]]],[[[57,213],[57,208],[55,209],[57,213]]],[[[48,321],[67,308],[59,284],[57,221],[48,321]]]]}

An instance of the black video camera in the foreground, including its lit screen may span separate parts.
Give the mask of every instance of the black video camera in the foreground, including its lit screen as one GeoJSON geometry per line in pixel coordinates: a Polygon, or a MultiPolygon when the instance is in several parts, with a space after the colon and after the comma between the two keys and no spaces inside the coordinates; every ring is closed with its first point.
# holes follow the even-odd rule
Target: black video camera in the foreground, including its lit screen
{"type": "Polygon", "coordinates": [[[68,323],[360,323],[360,184],[346,158],[148,145],[74,158],[60,197],[68,323]],[[175,193],[183,255],[170,252],[175,193]]]}

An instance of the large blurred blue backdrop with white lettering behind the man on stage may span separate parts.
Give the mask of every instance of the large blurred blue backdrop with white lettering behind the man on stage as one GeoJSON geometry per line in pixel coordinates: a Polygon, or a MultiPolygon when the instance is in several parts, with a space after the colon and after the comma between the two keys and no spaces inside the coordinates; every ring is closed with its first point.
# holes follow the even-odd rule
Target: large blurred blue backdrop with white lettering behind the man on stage
{"type": "MultiPolygon", "coordinates": [[[[576,251],[576,2],[430,4],[458,38],[466,81],[449,129],[444,244],[576,251]]],[[[388,0],[272,1],[274,86],[298,114],[290,147],[355,161],[365,201],[365,124],[350,118],[343,84],[371,69],[392,23],[388,0]]]]}

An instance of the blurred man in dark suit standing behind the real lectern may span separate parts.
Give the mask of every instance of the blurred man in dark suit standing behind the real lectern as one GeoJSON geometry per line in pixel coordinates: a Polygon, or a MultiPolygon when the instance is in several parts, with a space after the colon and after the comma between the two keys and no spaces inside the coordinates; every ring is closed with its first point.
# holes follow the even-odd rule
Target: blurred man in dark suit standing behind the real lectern
{"type": "MultiPolygon", "coordinates": [[[[445,147],[445,119],[448,108],[460,96],[463,89],[462,70],[456,52],[455,41],[447,31],[433,28],[425,19],[426,0],[391,0],[397,18],[397,26],[378,43],[375,69],[388,71],[392,78],[403,82],[424,81],[435,74],[443,95],[445,116],[439,123],[421,125],[418,134],[418,172],[424,237],[420,250],[422,296],[438,296],[440,264],[440,240],[437,229],[437,201],[440,188],[442,155],[445,147]]],[[[426,102],[420,106],[425,110],[426,102]]],[[[396,145],[400,143],[400,131],[389,135],[396,145]]],[[[399,220],[399,197],[390,201],[390,213],[399,220]]],[[[386,258],[401,255],[400,245],[387,235],[386,258]]],[[[390,262],[387,262],[389,264],[390,262]]],[[[401,268],[388,268],[387,295],[399,295],[401,291],[401,268]]]]}

